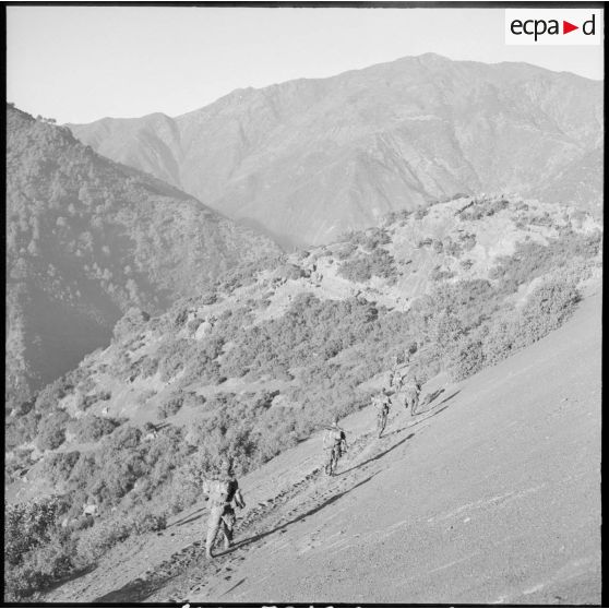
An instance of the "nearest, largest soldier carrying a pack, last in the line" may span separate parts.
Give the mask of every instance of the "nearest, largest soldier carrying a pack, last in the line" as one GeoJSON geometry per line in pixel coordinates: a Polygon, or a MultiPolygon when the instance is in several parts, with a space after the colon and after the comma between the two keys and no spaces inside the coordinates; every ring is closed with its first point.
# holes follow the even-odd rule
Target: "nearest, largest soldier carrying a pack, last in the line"
{"type": "Polygon", "coordinates": [[[232,529],[237,522],[235,507],[246,506],[239,483],[232,474],[232,463],[225,459],[220,466],[219,476],[203,482],[203,491],[210,497],[210,520],[207,521],[207,538],[205,540],[205,556],[213,558],[212,548],[218,530],[224,537],[224,549],[228,550],[232,541],[232,529]]]}

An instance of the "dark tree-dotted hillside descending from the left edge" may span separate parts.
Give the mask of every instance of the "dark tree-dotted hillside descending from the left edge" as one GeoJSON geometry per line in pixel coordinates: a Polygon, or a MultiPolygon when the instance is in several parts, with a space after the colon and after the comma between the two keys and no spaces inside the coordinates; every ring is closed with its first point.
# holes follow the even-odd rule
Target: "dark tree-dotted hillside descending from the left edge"
{"type": "Polygon", "coordinates": [[[151,313],[278,248],[67,128],[7,115],[7,402],[65,373],[135,306],[151,313]]]}

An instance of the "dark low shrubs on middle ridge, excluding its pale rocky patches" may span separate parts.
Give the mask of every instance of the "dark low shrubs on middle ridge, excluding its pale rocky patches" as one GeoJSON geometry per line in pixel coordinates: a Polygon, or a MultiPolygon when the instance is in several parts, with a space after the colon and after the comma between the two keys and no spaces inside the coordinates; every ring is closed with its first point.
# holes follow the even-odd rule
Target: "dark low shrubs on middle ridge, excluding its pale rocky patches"
{"type": "MultiPolygon", "coordinates": [[[[488,216],[504,208],[478,202],[461,214],[488,216]]],[[[398,214],[396,220],[408,217],[398,214]]],[[[396,262],[385,249],[387,239],[386,227],[351,235],[336,255],[339,275],[393,280],[396,262]]],[[[458,241],[430,237],[421,247],[458,258],[475,244],[476,236],[465,231],[458,241]]],[[[488,277],[453,276],[437,265],[432,289],[405,311],[363,298],[300,292],[284,314],[260,319],[261,302],[272,296],[265,292],[225,309],[203,341],[192,336],[189,311],[204,306],[203,299],[213,304],[230,295],[215,291],[200,301],[179,301],[159,318],[131,311],[117,325],[115,348],[99,370],[123,382],[154,377],[167,383],[162,395],[150,387],[141,395],[142,408],[154,399],[150,408],[156,426],[100,417],[86,407],[73,418],[65,398],[77,405],[77,395],[88,396],[96,408],[105,401],[106,390],[85,368],[51,383],[7,420],[12,479],[32,468],[61,489],[61,497],[7,507],[8,598],[31,598],[128,537],[163,529],[168,517],[200,499],[202,477],[223,455],[236,457],[238,474],[244,474],[333,416],[365,407],[370,392],[362,383],[389,370],[406,350],[414,354],[413,370],[421,381],[440,370],[462,380],[538,341],[573,312],[578,284],[600,244],[600,232],[572,231],[547,244],[522,242],[488,277]],[[144,336],[154,336],[155,346],[138,355],[144,336]],[[256,390],[224,390],[228,379],[255,382],[256,390]],[[215,391],[204,397],[199,390],[208,385],[215,391]],[[188,426],[179,422],[184,413],[188,426]],[[69,450],[67,433],[87,443],[87,450],[69,450]],[[44,465],[35,463],[33,451],[45,454],[44,465]],[[95,521],[82,514],[89,502],[101,513],[95,521]]],[[[455,264],[471,266],[468,260],[455,264]]],[[[273,276],[298,279],[301,273],[282,260],[273,276]]],[[[248,280],[236,273],[216,289],[248,280]]]]}

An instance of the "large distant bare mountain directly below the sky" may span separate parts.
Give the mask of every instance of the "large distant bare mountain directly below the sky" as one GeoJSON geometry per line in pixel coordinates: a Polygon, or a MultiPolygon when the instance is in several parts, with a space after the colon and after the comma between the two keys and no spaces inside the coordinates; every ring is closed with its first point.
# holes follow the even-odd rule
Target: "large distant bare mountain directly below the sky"
{"type": "Polygon", "coordinates": [[[525,63],[428,53],[238,89],[177,118],[71,129],[291,243],[327,243],[459,192],[600,211],[602,83],[525,63]]]}

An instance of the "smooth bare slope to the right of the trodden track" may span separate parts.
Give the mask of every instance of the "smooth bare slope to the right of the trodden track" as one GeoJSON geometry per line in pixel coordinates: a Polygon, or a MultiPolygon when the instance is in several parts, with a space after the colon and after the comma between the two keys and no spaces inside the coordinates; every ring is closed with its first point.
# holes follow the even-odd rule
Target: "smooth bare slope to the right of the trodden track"
{"type": "Polygon", "coordinates": [[[600,296],[457,391],[395,432],[401,415],[323,482],[343,497],[243,546],[189,599],[599,602],[600,296]]]}

